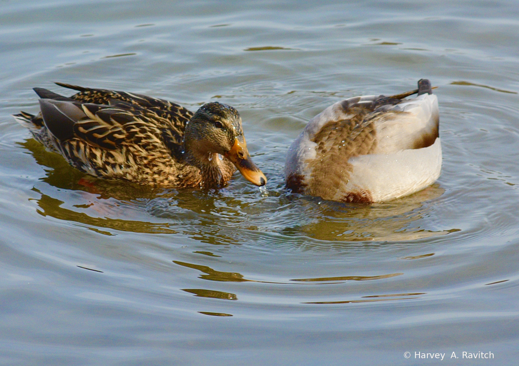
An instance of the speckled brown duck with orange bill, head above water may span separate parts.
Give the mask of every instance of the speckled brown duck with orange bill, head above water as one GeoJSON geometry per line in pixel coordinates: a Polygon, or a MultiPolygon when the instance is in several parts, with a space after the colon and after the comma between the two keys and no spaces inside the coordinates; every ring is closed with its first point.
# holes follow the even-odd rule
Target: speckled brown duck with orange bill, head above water
{"type": "Polygon", "coordinates": [[[15,118],[85,173],[208,188],[226,185],[238,168],[255,185],[267,182],[247,151],[240,115],[229,105],[207,103],[193,114],[140,94],[56,84],[79,92],[67,98],[34,88],[41,113],[15,118]]]}

